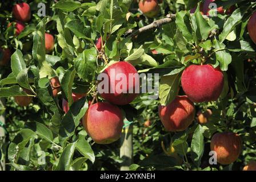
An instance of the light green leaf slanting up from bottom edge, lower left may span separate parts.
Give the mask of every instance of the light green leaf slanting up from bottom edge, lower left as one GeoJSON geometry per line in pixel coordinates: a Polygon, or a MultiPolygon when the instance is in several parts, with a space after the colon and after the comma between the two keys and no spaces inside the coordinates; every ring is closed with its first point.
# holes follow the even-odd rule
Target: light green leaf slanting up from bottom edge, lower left
{"type": "Polygon", "coordinates": [[[70,168],[72,158],[75,151],[76,142],[68,144],[59,158],[58,165],[54,168],[54,171],[66,171],[70,168]]]}

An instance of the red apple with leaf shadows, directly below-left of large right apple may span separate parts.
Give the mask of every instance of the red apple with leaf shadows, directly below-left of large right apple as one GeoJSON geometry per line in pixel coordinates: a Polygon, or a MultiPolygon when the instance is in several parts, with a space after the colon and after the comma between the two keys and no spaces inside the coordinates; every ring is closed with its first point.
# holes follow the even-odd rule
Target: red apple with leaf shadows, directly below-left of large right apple
{"type": "Polygon", "coordinates": [[[194,120],[195,106],[187,96],[177,96],[169,105],[159,106],[158,113],[166,131],[184,131],[194,120]]]}

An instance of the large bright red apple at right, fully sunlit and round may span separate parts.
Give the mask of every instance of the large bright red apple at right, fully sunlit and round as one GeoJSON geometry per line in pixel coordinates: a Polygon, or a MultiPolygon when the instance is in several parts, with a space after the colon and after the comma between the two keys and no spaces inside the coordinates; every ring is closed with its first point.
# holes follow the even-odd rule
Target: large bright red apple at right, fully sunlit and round
{"type": "Polygon", "coordinates": [[[224,86],[224,76],[212,65],[190,65],[181,76],[182,88],[193,102],[218,100],[224,86]]]}

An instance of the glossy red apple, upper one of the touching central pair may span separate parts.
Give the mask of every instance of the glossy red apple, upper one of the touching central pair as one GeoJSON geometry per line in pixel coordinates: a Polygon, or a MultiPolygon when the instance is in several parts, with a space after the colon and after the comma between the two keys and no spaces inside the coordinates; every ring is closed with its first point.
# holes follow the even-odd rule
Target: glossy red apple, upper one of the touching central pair
{"type": "Polygon", "coordinates": [[[100,82],[98,85],[98,92],[105,100],[116,105],[126,105],[138,96],[138,93],[135,93],[135,88],[139,88],[138,72],[130,63],[120,61],[111,64],[102,73],[108,78],[108,82],[105,79],[103,79],[102,82],[106,82],[109,89],[105,88],[105,92],[100,92],[99,90],[104,89],[106,86],[102,86],[102,82],[100,82]],[[122,77],[118,78],[118,76],[122,75],[125,76],[123,80],[122,77]],[[133,77],[133,75],[135,76],[133,77]],[[133,91],[133,93],[129,93],[129,90],[133,91]]]}

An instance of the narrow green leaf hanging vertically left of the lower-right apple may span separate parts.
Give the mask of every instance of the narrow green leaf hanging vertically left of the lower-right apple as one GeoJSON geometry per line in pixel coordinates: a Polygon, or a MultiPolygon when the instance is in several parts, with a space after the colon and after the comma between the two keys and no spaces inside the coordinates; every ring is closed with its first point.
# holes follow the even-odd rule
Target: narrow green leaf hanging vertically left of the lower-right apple
{"type": "Polygon", "coordinates": [[[191,154],[191,158],[193,159],[193,162],[197,165],[197,167],[199,167],[201,164],[201,158],[205,147],[205,143],[203,142],[204,132],[205,130],[203,129],[203,127],[201,125],[198,125],[197,129],[195,129],[191,141],[191,151],[193,152],[191,154]]]}

